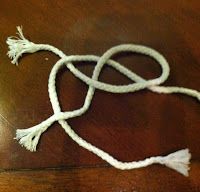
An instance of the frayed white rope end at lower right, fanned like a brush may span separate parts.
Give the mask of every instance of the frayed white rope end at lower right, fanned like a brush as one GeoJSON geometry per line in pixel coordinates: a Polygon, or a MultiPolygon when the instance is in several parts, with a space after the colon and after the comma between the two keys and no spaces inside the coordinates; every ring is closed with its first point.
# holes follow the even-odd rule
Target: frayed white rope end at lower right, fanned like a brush
{"type": "Polygon", "coordinates": [[[165,164],[167,167],[174,169],[182,175],[188,177],[190,170],[190,159],[191,154],[189,149],[182,149],[163,157],[162,164],[165,164]]]}

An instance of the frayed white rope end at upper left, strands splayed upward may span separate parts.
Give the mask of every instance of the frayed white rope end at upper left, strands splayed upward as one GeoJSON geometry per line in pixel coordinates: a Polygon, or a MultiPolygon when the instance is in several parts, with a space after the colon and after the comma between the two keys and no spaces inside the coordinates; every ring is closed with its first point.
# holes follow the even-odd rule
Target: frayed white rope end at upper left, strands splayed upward
{"type": "Polygon", "coordinates": [[[22,27],[17,26],[17,33],[18,36],[11,36],[8,37],[6,43],[8,44],[8,57],[12,59],[12,63],[18,65],[18,59],[24,53],[34,53],[37,51],[36,44],[27,40],[22,32],[22,27]]]}

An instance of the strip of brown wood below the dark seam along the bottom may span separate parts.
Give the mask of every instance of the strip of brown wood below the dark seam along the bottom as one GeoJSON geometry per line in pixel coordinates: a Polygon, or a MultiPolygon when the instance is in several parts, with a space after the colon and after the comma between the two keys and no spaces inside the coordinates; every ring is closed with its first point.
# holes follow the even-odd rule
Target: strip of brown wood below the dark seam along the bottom
{"type": "Polygon", "coordinates": [[[200,170],[198,168],[199,163],[192,164],[189,178],[156,165],[131,171],[90,167],[4,172],[0,173],[0,190],[2,192],[22,190],[39,192],[199,192],[200,170]]]}

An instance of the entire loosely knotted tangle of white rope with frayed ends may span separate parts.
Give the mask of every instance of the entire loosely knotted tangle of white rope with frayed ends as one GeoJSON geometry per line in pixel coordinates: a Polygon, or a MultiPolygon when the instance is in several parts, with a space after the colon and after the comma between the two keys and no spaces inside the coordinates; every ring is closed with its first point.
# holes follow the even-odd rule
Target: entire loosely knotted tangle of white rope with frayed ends
{"type": "Polygon", "coordinates": [[[192,97],[197,98],[200,100],[200,93],[196,90],[183,88],[183,87],[164,87],[160,86],[169,76],[169,65],[165,58],[158,53],[156,50],[152,48],[141,46],[141,45],[134,45],[134,44],[125,44],[115,46],[108,51],[106,51],[103,56],[98,57],[95,55],[72,55],[66,56],[62,51],[59,49],[47,45],[47,44],[35,44],[27,40],[20,27],[17,27],[19,37],[9,37],[7,39],[7,44],[9,46],[8,56],[12,59],[13,64],[18,64],[18,59],[24,53],[34,53],[40,50],[47,50],[55,53],[61,59],[53,66],[50,76],[49,76],[49,83],[48,83],[48,91],[50,101],[53,107],[54,114],[49,117],[47,120],[43,121],[42,123],[28,128],[28,129],[18,129],[16,132],[16,139],[19,140],[19,143],[24,146],[26,149],[30,151],[36,151],[36,147],[38,141],[40,139],[41,134],[48,129],[55,121],[58,121],[60,125],[64,128],[66,133],[80,146],[84,147],[85,149],[93,152],[94,154],[98,155],[105,161],[107,161],[112,166],[118,169],[134,169],[134,168],[141,168],[146,167],[151,164],[163,164],[167,167],[170,167],[179,173],[188,176],[189,171],[189,161],[191,158],[191,154],[189,153],[188,149],[182,149],[167,156],[157,156],[157,157],[150,157],[145,160],[141,161],[134,161],[134,162],[121,162],[117,159],[113,158],[108,153],[104,152],[103,150],[95,147],[94,145],[88,143],[83,138],[78,136],[70,125],[67,123],[67,119],[73,118],[76,116],[80,116],[84,114],[90,107],[92,102],[95,89],[100,89],[107,92],[112,93],[128,93],[128,92],[135,92],[142,89],[149,89],[150,91],[157,92],[157,93],[182,93],[192,97]],[[136,52],[140,54],[145,54],[147,56],[152,57],[155,59],[161,66],[162,74],[160,77],[145,80],[144,78],[140,77],[139,75],[135,74],[134,72],[130,71],[129,69],[125,68],[124,66],[120,65],[114,60],[111,60],[111,57],[119,52],[136,52]],[[73,62],[81,62],[81,61],[93,61],[97,62],[97,65],[94,68],[92,78],[86,76],[81,71],[79,71],[74,65],[73,62]],[[129,79],[135,81],[135,83],[129,85],[111,85],[107,83],[100,82],[98,80],[99,74],[103,68],[103,66],[107,64],[129,79]],[[62,112],[61,107],[58,101],[58,96],[56,92],[56,75],[59,69],[62,66],[66,66],[69,71],[71,71],[77,78],[85,82],[89,88],[85,98],[85,102],[80,109],[76,109],[74,111],[67,111],[62,112]]]}

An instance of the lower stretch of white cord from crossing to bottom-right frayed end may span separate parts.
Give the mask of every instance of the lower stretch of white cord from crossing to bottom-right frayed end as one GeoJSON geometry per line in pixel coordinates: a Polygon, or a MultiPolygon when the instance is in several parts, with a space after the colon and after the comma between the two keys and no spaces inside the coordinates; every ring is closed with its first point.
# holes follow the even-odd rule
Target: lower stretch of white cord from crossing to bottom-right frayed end
{"type": "Polygon", "coordinates": [[[103,160],[107,161],[110,165],[117,169],[121,170],[130,170],[130,169],[136,169],[136,168],[142,168],[147,167],[152,164],[161,164],[165,165],[171,169],[176,170],[177,172],[183,174],[184,176],[188,176],[189,171],[189,161],[191,158],[191,154],[189,152],[189,149],[182,149],[179,151],[176,151],[174,153],[171,153],[167,156],[157,156],[157,157],[150,157],[146,158],[141,161],[133,161],[133,162],[122,162],[108,153],[104,152],[103,150],[97,148],[96,146],[88,143],[81,137],[79,137],[73,129],[69,126],[69,124],[64,121],[60,120],[59,123],[61,126],[65,129],[66,133],[81,147],[93,152],[103,160]]]}

